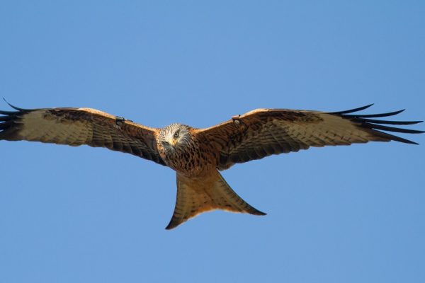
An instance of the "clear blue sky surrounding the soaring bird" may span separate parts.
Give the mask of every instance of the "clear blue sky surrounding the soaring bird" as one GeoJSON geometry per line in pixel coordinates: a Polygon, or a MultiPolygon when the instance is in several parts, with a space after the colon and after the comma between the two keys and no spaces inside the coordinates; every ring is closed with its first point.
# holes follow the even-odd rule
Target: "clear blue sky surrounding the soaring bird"
{"type": "MultiPolygon", "coordinates": [[[[0,96],[152,127],[369,103],[424,120],[424,3],[1,1],[0,96]]],[[[234,166],[229,185],[268,215],[210,212],[172,231],[171,169],[0,141],[0,282],[425,282],[425,134],[402,137],[421,145],[234,166]]]]}

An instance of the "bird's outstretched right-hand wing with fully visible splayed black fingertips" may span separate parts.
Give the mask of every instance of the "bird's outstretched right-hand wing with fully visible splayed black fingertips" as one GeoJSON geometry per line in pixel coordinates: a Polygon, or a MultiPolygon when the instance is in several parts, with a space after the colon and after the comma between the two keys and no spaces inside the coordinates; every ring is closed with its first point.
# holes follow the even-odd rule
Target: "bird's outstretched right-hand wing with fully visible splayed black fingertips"
{"type": "Polygon", "coordinates": [[[386,132],[423,133],[386,125],[412,125],[421,121],[384,121],[374,117],[397,115],[388,112],[374,115],[350,114],[365,108],[341,112],[318,112],[289,109],[256,109],[207,129],[199,129],[197,138],[215,150],[217,168],[224,170],[234,163],[260,159],[271,154],[308,149],[310,146],[337,146],[368,141],[400,141],[416,144],[386,132]],[[386,132],[380,132],[380,130],[386,132]]]}

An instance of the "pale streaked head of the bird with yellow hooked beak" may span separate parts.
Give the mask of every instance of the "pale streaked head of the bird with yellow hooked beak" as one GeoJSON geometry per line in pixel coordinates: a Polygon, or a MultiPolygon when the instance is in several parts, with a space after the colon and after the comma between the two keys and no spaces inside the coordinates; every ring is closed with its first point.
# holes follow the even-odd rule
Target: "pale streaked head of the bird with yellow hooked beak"
{"type": "Polygon", "coordinates": [[[171,124],[159,131],[159,143],[164,149],[176,149],[188,146],[191,142],[190,127],[181,124],[171,124]]]}

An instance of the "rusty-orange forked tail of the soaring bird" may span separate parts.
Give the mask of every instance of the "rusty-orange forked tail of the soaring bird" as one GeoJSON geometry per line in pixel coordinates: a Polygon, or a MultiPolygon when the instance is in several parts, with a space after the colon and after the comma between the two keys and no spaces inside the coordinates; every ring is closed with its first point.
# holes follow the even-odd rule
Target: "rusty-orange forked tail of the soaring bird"
{"type": "Polygon", "coordinates": [[[218,171],[199,179],[177,173],[176,207],[166,229],[173,229],[200,213],[214,209],[266,215],[242,200],[218,171]]]}

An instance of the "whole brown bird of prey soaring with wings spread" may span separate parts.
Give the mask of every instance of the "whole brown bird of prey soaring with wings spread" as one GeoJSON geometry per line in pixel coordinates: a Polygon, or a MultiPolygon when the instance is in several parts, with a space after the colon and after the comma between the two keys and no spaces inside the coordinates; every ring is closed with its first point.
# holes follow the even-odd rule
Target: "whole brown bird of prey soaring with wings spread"
{"type": "Polygon", "coordinates": [[[368,141],[416,144],[389,132],[424,133],[387,126],[413,125],[422,121],[375,119],[397,115],[403,110],[356,114],[371,105],[339,112],[256,109],[205,129],[182,124],[146,127],[91,108],[23,109],[9,105],[14,111],[0,110],[0,140],[105,147],[176,171],[176,206],[166,229],[173,229],[193,216],[214,209],[265,215],[239,197],[220,174],[219,171],[236,163],[272,154],[287,154],[310,146],[368,141]]]}

